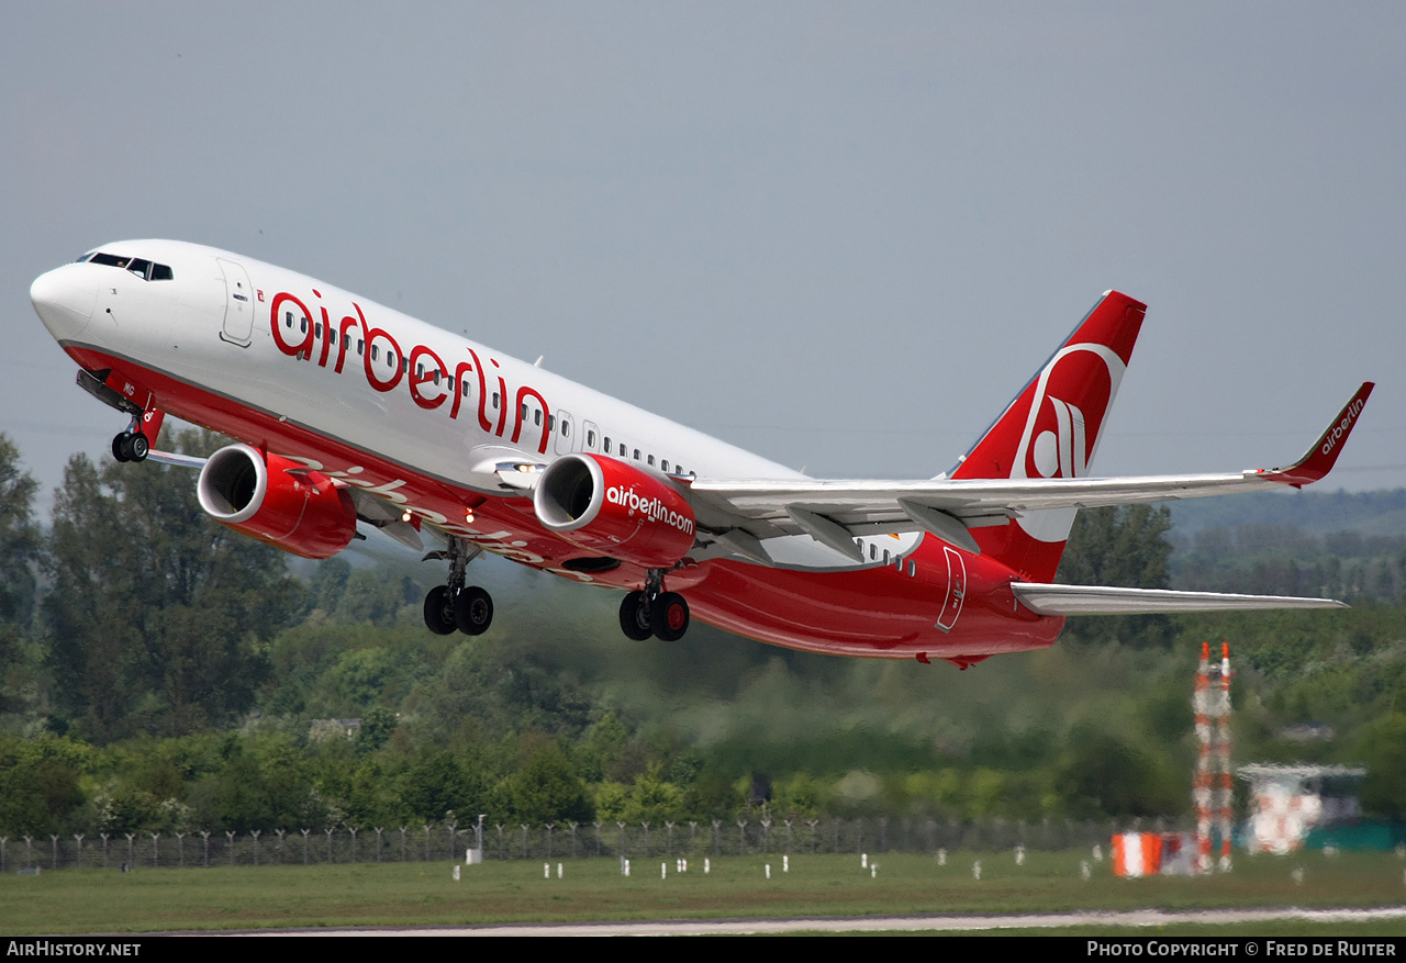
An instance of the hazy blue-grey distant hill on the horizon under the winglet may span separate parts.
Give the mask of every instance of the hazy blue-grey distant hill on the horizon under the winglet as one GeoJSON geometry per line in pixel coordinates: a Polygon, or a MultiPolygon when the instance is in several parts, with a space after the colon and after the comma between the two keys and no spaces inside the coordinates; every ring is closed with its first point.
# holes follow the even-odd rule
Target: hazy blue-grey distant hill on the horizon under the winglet
{"type": "Polygon", "coordinates": [[[1167,502],[1173,530],[1195,536],[1202,529],[1241,524],[1292,524],[1305,534],[1357,531],[1406,536],[1406,488],[1379,492],[1254,492],[1226,498],[1167,502]]]}

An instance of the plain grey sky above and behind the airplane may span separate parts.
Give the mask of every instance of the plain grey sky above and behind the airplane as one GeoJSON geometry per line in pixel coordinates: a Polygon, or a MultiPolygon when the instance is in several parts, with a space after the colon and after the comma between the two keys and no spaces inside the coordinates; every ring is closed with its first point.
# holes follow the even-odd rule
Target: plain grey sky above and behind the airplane
{"type": "Polygon", "coordinates": [[[1109,287],[1095,474],[1406,484],[1406,7],[14,4],[0,429],[51,488],[122,419],[30,281],[228,247],[817,475],[953,461],[1109,287]]]}

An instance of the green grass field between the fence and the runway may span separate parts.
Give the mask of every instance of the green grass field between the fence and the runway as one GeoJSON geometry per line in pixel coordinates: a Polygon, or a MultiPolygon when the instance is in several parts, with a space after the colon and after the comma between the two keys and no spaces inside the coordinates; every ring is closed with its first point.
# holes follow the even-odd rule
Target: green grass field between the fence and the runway
{"type": "MultiPolygon", "coordinates": [[[[858,856],[794,856],[789,873],[780,856],[720,858],[706,876],[700,859],[686,874],[669,860],[666,879],[658,859],[636,862],[628,879],[610,859],[564,860],[562,879],[555,862],[551,879],[543,879],[543,863],[489,862],[464,866],[458,881],[449,863],[7,873],[0,932],[1406,904],[1406,862],[1389,853],[1241,856],[1229,874],[1144,880],[1116,879],[1107,862],[1084,880],[1084,858],[1029,853],[1017,866],[1011,853],[953,853],[939,866],[932,856],[880,855],[876,876],[858,856]],[[1302,883],[1291,876],[1299,867],[1302,883]]],[[[1406,921],[1374,928],[1384,932],[1406,935],[1406,921]]]]}

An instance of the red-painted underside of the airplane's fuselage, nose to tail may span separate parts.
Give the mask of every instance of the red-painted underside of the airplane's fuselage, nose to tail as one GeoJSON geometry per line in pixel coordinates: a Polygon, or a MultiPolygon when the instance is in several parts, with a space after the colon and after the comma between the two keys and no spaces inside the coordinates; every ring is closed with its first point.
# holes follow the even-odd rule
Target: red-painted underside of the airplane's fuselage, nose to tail
{"type": "MultiPolygon", "coordinates": [[[[565,578],[621,589],[644,583],[644,569],[623,564],[610,572],[571,572],[564,562],[582,555],[537,523],[531,500],[484,495],[429,478],[308,427],[280,420],[169,374],[103,351],[66,344],[90,371],[111,368],[136,381],[162,411],[209,427],[264,451],[318,463],[328,472],[360,468],[361,482],[395,486],[412,512],[437,513],[449,527],[485,550],[565,578]],[[465,512],[474,522],[465,524],[465,512]]],[[[419,516],[416,516],[419,517],[419,516]]],[[[948,552],[959,551],[927,536],[907,558],[917,575],[890,565],[859,571],[810,572],[766,568],[740,561],[703,561],[666,576],[666,588],[688,599],[693,617],[773,645],[870,658],[945,658],[959,664],[1001,652],[1050,645],[1062,617],[1038,616],[1017,603],[1010,582],[1017,575],[997,561],[962,551],[966,583],[950,630],[936,626],[950,612],[948,552]]]]}

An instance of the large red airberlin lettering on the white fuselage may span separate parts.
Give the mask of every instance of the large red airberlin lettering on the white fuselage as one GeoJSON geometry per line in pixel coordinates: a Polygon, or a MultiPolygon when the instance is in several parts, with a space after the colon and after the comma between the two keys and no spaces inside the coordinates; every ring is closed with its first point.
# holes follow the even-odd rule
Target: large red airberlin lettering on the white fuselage
{"type": "MultiPolygon", "coordinates": [[[[316,319],[308,304],[297,294],[280,291],[273,295],[269,305],[269,328],[273,333],[273,342],[281,353],[302,361],[312,361],[316,354],[318,367],[325,368],[330,363],[332,371],[342,374],[347,354],[353,347],[350,335],[354,330],[359,335],[356,356],[360,357],[361,371],[371,388],[382,392],[395,391],[404,380],[409,387],[411,398],[425,411],[434,411],[443,408],[444,402],[450,402],[449,418],[451,419],[458,418],[464,395],[468,394],[464,389],[465,375],[474,374],[478,378],[478,426],[488,434],[505,436],[509,405],[508,382],[499,373],[501,366],[496,358],[488,358],[488,364],[494,367],[494,371],[489,373],[482,360],[479,360],[478,351],[465,347],[464,350],[468,351],[470,357],[457,358],[453,364],[453,374],[450,374],[451,366],[434,349],[425,344],[415,344],[409,351],[402,350],[401,343],[391,332],[384,328],[374,328],[367,322],[366,312],[356,301],[352,302],[354,314],[343,315],[333,325],[332,314],[322,304],[322,294],[316,288],[312,288],[312,294],[316,298],[321,321],[316,319]],[[301,316],[294,318],[290,305],[295,305],[301,316]],[[283,311],[281,318],[280,311],[283,311]],[[297,332],[298,339],[290,339],[288,332],[297,332]],[[382,367],[382,347],[387,358],[384,367],[388,368],[388,377],[382,377],[378,370],[382,367]],[[489,382],[489,377],[496,381],[496,385],[489,382]],[[495,387],[496,391],[494,389],[495,387]],[[494,401],[494,408],[498,409],[496,420],[489,412],[489,399],[494,401]]],[[[259,301],[263,299],[264,292],[260,290],[259,301]]],[[[356,363],[356,357],[353,363],[356,363]]],[[[526,402],[529,398],[536,399],[541,405],[541,436],[537,441],[537,453],[546,454],[547,443],[551,439],[551,406],[543,394],[531,385],[522,385],[513,396],[513,426],[512,436],[508,440],[517,444],[524,427],[529,432],[538,427],[537,425],[527,425],[526,402]]]]}

